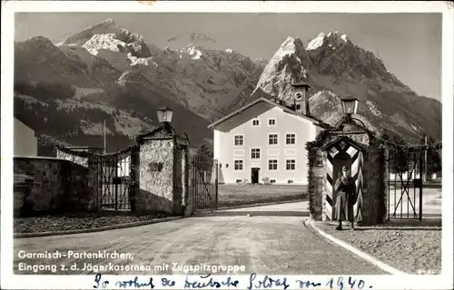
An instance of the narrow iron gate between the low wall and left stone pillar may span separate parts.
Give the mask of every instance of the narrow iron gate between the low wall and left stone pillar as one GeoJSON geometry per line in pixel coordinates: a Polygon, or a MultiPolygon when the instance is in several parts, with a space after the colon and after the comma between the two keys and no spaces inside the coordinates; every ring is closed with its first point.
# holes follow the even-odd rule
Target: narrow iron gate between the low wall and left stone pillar
{"type": "Polygon", "coordinates": [[[131,209],[131,153],[98,155],[94,163],[98,180],[98,208],[131,209]]]}

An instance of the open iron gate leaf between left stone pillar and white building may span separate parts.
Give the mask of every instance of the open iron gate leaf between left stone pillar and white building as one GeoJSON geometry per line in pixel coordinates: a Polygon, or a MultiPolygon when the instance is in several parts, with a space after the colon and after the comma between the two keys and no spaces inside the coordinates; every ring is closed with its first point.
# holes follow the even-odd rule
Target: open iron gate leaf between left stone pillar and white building
{"type": "Polygon", "coordinates": [[[191,169],[192,213],[218,208],[218,161],[194,156],[191,169]]]}

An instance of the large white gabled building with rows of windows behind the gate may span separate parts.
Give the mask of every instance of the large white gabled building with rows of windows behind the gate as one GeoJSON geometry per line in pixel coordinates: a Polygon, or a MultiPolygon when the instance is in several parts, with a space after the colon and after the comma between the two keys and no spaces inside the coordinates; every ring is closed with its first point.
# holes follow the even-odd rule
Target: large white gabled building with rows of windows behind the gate
{"type": "Polygon", "coordinates": [[[307,184],[305,144],[326,128],[310,116],[307,103],[261,97],[213,122],[218,181],[307,184]]]}

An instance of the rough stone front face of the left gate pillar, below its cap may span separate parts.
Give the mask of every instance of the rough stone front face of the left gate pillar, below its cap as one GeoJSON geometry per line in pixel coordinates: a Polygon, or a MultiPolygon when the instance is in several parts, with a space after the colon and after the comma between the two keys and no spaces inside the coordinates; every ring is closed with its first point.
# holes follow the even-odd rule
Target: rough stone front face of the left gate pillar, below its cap
{"type": "Polygon", "coordinates": [[[173,139],[143,140],[139,153],[139,189],[133,201],[136,212],[173,213],[173,150],[173,139]]]}

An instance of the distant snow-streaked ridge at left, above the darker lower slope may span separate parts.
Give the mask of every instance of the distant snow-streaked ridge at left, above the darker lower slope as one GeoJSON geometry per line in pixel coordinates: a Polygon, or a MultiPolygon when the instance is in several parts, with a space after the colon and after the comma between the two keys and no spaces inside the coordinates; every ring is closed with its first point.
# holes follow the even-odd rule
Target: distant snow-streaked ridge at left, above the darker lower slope
{"type": "Polygon", "coordinates": [[[169,91],[174,101],[212,121],[226,108],[237,106],[238,95],[247,99],[262,73],[262,63],[232,49],[194,44],[201,39],[215,42],[207,35],[191,34],[192,43],[181,49],[160,49],[107,19],[71,35],[60,47],[83,47],[123,73],[140,72],[148,82],[169,91]]]}

